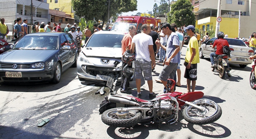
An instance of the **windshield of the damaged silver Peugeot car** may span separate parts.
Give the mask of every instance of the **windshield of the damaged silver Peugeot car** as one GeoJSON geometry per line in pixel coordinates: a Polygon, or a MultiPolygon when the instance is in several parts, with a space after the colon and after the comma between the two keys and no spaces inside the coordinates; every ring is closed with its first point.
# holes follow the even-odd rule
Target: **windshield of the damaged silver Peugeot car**
{"type": "Polygon", "coordinates": [[[121,48],[124,35],[120,34],[94,34],[86,47],[117,47],[121,48]]]}

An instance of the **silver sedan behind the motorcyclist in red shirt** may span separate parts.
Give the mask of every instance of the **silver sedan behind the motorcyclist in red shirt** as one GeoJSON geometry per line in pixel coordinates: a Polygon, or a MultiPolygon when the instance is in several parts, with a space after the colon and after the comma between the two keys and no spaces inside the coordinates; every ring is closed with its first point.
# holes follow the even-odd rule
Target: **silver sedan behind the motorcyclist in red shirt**
{"type": "MultiPolygon", "coordinates": [[[[199,50],[199,57],[210,58],[210,54],[213,52],[213,48],[210,47],[217,38],[211,38],[208,42],[201,45],[199,50]]],[[[230,57],[228,58],[229,63],[239,64],[240,67],[246,67],[248,64],[251,64],[253,60],[249,57],[253,55],[253,49],[248,47],[242,40],[224,38],[228,41],[229,48],[231,50],[230,57]]]]}

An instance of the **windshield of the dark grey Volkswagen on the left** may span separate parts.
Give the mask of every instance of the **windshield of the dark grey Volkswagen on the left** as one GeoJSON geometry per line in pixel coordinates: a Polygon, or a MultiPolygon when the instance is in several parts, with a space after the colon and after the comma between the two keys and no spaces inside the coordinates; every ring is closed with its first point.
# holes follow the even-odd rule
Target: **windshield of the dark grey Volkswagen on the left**
{"type": "Polygon", "coordinates": [[[58,36],[24,36],[13,49],[56,50],[58,36]]]}

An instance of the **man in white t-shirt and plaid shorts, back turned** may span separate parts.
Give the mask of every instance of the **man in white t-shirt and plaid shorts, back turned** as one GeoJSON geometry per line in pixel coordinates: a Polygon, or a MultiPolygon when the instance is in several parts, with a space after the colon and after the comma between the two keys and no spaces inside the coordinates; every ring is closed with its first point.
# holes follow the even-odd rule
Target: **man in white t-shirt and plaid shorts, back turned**
{"type": "Polygon", "coordinates": [[[131,41],[131,54],[134,53],[134,48],[136,46],[135,55],[135,79],[137,87],[137,97],[141,97],[140,86],[142,72],[144,74],[144,79],[147,81],[148,89],[150,91],[149,98],[152,99],[156,96],[153,92],[153,80],[152,80],[152,68],[156,66],[155,53],[153,49],[152,37],[148,34],[150,33],[150,25],[143,24],[141,26],[141,33],[135,35],[131,41]],[[151,57],[151,59],[150,59],[151,57]],[[151,66],[152,61],[152,66],[151,66]]]}

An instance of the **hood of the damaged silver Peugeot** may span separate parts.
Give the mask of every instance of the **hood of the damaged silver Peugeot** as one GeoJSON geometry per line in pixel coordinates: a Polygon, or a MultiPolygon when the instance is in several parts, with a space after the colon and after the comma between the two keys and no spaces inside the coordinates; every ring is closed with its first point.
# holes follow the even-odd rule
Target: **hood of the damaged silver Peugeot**
{"type": "Polygon", "coordinates": [[[84,47],[82,51],[86,56],[113,57],[113,58],[121,58],[122,57],[122,48],[84,47]]]}

